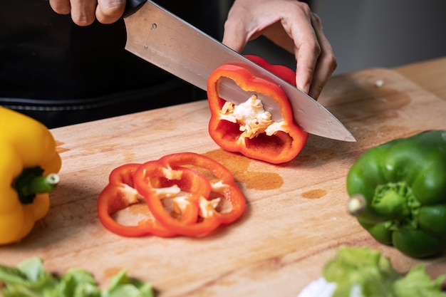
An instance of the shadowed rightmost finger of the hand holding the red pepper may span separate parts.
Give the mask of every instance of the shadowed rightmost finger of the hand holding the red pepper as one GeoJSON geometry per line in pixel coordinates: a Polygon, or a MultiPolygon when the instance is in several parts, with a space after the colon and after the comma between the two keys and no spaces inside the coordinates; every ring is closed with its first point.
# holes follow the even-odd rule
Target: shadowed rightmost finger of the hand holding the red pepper
{"type": "Polygon", "coordinates": [[[319,44],[321,45],[321,54],[316,63],[316,69],[313,73],[313,80],[308,95],[317,99],[319,95],[321,95],[322,89],[326,85],[328,79],[336,70],[338,63],[333,53],[333,48],[331,48],[331,44],[323,33],[321,20],[315,15],[313,16],[312,22],[319,44]]]}

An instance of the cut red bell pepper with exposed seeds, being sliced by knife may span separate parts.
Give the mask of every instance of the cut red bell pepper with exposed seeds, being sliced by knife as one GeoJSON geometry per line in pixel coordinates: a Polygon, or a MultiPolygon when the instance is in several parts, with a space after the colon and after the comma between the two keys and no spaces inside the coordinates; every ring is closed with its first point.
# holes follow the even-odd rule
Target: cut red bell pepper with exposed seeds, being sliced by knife
{"type": "MultiPolygon", "coordinates": [[[[291,69],[271,65],[257,56],[247,58],[296,86],[296,73],[291,69]]],[[[211,111],[209,135],[224,150],[279,164],[293,160],[306,143],[308,133],[296,125],[284,90],[268,80],[255,77],[242,66],[226,64],[215,69],[207,80],[207,98],[211,111]],[[276,123],[271,120],[271,113],[263,110],[256,96],[247,98],[243,105],[227,103],[219,97],[220,78],[229,78],[242,90],[275,100],[283,121],[276,123]],[[247,113],[251,115],[247,116],[247,113]]]]}

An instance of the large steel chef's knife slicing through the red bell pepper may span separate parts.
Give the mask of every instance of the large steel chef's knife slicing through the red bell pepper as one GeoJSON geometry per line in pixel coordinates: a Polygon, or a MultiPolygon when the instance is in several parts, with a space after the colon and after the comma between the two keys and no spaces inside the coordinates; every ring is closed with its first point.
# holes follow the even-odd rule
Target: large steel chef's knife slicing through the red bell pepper
{"type": "MultiPolygon", "coordinates": [[[[207,89],[207,79],[217,67],[227,63],[243,66],[253,75],[276,83],[285,91],[296,123],[306,132],[356,141],[346,127],[316,100],[152,1],[128,0],[124,21],[127,30],[125,49],[145,61],[203,90],[207,89]]],[[[230,79],[219,84],[219,95],[234,104],[249,98],[249,94],[230,79]]],[[[279,106],[274,100],[260,99],[273,120],[281,120],[279,106]]]]}

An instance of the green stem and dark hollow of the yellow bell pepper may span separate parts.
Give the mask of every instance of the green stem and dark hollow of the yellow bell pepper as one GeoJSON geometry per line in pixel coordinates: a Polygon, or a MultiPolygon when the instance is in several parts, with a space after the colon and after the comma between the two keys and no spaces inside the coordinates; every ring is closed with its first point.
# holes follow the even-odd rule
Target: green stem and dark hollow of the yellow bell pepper
{"type": "Polygon", "coordinates": [[[51,192],[59,182],[56,173],[43,176],[41,167],[26,168],[14,181],[13,187],[22,204],[33,203],[36,194],[51,192]]]}

